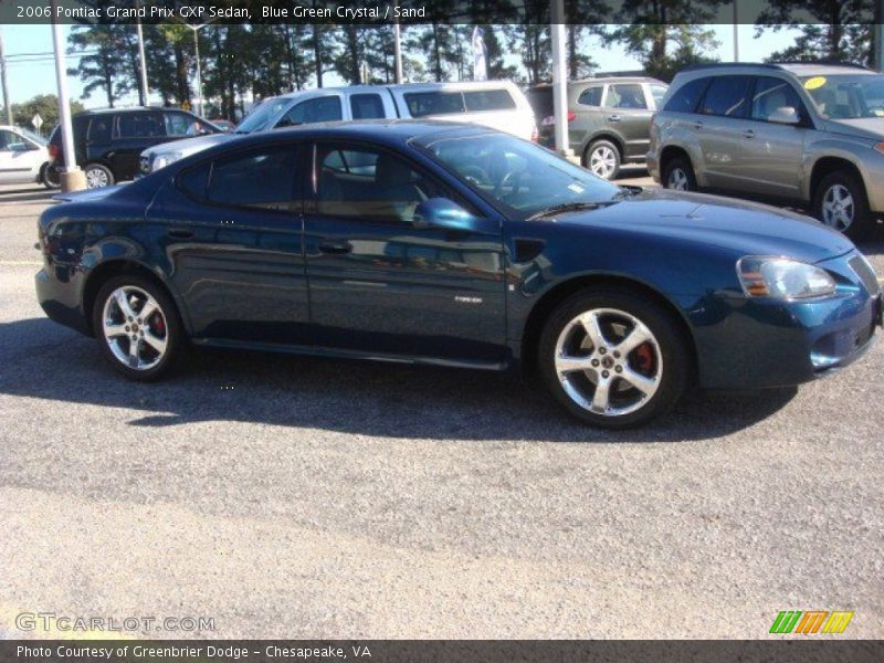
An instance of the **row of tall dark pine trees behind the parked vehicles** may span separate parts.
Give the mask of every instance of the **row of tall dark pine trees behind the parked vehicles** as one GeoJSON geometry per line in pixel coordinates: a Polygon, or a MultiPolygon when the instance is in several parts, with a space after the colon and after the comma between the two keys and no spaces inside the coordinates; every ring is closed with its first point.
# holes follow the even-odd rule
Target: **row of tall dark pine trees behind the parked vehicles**
{"type": "MultiPolygon", "coordinates": [[[[435,0],[444,15],[456,0],[435,0]]],[[[485,24],[491,78],[523,85],[550,80],[549,2],[522,0],[523,23],[485,24]],[[514,56],[505,57],[506,53],[514,56]]],[[[474,3],[474,6],[481,4],[474,3]]],[[[594,73],[593,44],[620,44],[646,74],[669,81],[680,69],[718,60],[719,45],[706,24],[726,0],[622,0],[612,11],[598,0],[571,0],[566,13],[591,23],[567,25],[568,73],[594,73]]],[[[780,30],[796,11],[817,24],[801,27],[793,45],[771,60],[850,60],[871,64],[871,24],[864,0],[768,0],[757,34],[780,30]]],[[[473,24],[428,22],[402,27],[406,81],[457,81],[472,77],[473,24]]],[[[196,66],[193,31],[177,23],[144,25],[148,87],[164,105],[192,105],[196,66]]],[[[346,84],[392,83],[393,29],[389,24],[210,24],[199,32],[203,94],[212,116],[242,114],[243,97],[264,98],[292,90],[322,87],[332,73],[346,84]]],[[[69,73],[84,83],[84,96],[101,95],[108,106],[140,90],[134,25],[75,25],[69,52],[78,63],[69,73]]]]}

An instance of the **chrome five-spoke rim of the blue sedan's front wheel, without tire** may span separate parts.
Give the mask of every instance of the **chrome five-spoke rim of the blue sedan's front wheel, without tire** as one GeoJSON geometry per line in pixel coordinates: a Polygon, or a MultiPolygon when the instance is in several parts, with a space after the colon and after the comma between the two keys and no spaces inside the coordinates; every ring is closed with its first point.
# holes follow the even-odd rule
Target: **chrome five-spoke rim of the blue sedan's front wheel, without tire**
{"type": "Polygon", "coordinates": [[[645,406],[663,377],[663,357],[635,316],[594,308],[568,323],[556,341],[556,373],[570,399],[596,414],[621,417],[645,406]]]}

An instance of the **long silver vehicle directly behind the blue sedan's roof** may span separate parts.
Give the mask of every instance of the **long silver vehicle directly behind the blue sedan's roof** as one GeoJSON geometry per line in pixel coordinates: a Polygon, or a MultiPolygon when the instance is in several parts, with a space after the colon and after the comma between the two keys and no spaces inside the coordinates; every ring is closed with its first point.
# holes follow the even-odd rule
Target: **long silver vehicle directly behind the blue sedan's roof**
{"type": "Polygon", "coordinates": [[[228,135],[206,136],[146,149],[148,175],[232,137],[320,122],[425,118],[469,122],[536,139],[534,112],[509,81],[352,85],[302,90],[264,99],[228,135]]]}

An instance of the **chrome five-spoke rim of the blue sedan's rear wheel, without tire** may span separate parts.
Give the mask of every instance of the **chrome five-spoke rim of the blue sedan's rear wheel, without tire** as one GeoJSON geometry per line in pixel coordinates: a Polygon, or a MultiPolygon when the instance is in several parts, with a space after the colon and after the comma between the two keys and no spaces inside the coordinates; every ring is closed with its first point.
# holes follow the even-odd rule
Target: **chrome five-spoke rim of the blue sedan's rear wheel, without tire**
{"type": "Polygon", "coordinates": [[[166,356],[169,326],[157,301],[140,287],[123,286],[110,293],[102,315],[104,339],[120,362],[148,370],[166,356]]]}

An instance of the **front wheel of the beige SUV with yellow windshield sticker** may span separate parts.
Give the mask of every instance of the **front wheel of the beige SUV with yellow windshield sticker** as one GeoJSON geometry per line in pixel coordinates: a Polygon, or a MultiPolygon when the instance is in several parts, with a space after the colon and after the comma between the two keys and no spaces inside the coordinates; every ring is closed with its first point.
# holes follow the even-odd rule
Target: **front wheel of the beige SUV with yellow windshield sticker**
{"type": "Polygon", "coordinates": [[[852,240],[865,238],[874,228],[865,189],[846,170],[836,170],[822,178],[817,188],[813,212],[825,225],[852,240]]]}

